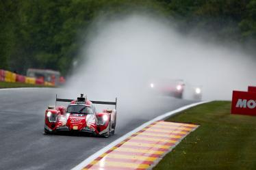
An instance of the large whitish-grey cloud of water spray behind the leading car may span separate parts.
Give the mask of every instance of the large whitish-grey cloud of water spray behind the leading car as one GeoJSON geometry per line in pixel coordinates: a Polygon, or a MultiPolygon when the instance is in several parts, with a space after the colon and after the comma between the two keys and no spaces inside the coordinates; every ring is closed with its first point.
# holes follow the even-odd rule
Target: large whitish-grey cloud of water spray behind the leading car
{"type": "Polygon", "coordinates": [[[92,30],[90,43],[81,49],[84,60],[66,85],[73,96],[144,98],[145,82],[164,78],[183,79],[186,87],[201,85],[203,100],[231,100],[233,89],[256,84],[250,56],[183,36],[164,19],[100,20],[92,30]]]}

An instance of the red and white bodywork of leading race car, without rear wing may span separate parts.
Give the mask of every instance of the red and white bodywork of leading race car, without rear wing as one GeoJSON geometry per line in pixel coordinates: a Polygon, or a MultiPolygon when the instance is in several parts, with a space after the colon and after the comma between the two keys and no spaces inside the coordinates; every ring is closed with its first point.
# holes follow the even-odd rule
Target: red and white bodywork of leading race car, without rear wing
{"type": "Polygon", "coordinates": [[[73,100],[70,105],[90,107],[93,114],[67,113],[66,107],[49,107],[44,115],[44,132],[89,132],[96,135],[114,134],[116,126],[116,109],[105,109],[100,113],[95,110],[94,104],[90,100],[79,102],[73,100]]]}

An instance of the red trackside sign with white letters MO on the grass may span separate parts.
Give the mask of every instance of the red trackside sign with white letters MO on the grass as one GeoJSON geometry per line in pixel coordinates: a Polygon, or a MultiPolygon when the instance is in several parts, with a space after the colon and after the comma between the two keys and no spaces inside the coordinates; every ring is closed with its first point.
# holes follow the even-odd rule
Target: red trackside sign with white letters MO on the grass
{"type": "Polygon", "coordinates": [[[250,91],[233,91],[231,113],[256,115],[256,93],[250,91]]]}

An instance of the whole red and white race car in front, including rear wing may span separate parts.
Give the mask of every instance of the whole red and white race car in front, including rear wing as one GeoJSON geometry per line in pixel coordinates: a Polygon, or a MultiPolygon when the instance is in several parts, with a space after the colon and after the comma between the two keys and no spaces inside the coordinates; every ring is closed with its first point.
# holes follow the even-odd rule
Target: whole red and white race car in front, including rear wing
{"type": "Polygon", "coordinates": [[[68,107],[48,107],[45,111],[44,133],[87,132],[102,137],[114,134],[116,128],[116,102],[90,101],[81,97],[77,100],[57,98],[56,102],[70,102],[68,107]],[[115,109],[97,112],[94,104],[112,104],[115,109]]]}

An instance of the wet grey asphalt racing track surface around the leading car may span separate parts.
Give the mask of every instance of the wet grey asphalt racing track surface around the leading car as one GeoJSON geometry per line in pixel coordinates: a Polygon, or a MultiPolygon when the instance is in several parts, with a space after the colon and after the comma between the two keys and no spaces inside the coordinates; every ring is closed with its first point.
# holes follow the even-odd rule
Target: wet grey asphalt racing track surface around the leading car
{"type": "MultiPolygon", "coordinates": [[[[0,169],[71,169],[144,122],[193,101],[159,98],[120,107],[116,134],[101,137],[44,135],[44,110],[59,89],[0,90],[0,169]]],[[[98,110],[99,111],[99,110],[98,110]]]]}

